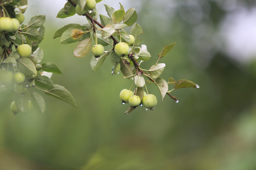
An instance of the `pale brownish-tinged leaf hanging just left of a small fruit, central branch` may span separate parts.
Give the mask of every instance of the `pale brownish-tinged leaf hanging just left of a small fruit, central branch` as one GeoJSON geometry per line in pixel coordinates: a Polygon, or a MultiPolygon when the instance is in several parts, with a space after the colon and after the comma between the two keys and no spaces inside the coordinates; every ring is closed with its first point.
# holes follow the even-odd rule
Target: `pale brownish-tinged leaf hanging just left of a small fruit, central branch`
{"type": "Polygon", "coordinates": [[[91,51],[91,37],[79,42],[74,49],[75,57],[84,57],[91,51]]]}

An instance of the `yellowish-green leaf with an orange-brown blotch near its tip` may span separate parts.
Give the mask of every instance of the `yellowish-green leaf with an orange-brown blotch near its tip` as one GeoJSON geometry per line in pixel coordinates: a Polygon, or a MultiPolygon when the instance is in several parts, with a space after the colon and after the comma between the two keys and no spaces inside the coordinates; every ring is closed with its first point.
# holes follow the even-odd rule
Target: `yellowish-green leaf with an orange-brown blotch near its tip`
{"type": "Polygon", "coordinates": [[[68,44],[73,42],[78,42],[82,39],[83,31],[80,28],[68,28],[61,35],[61,43],[68,44]]]}

